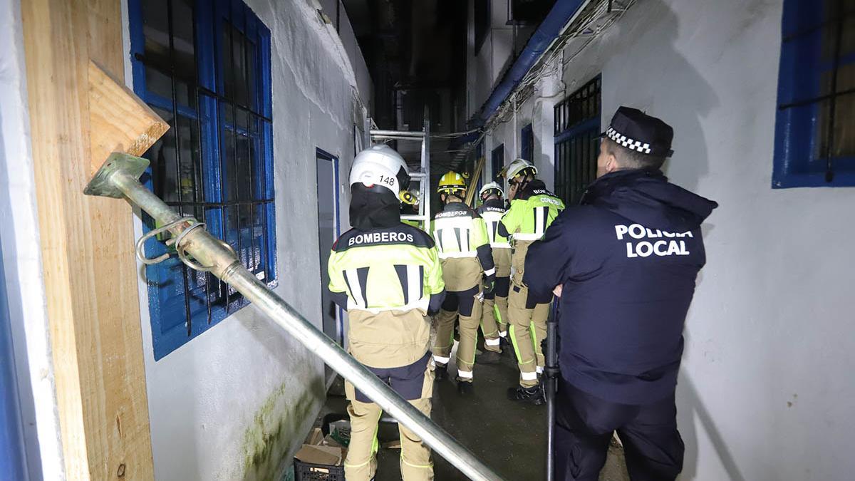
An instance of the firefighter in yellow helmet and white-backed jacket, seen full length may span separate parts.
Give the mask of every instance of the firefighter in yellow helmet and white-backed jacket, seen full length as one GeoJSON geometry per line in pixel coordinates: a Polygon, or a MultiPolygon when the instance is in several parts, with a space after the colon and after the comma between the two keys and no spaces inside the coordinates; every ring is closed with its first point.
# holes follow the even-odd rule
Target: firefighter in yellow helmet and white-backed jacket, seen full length
{"type": "MultiPolygon", "coordinates": [[[[454,344],[454,319],[459,314],[457,390],[462,395],[469,395],[472,392],[478,324],[481,323],[481,301],[486,293],[492,291],[496,269],[484,219],[463,203],[466,197],[463,175],[446,173],[439,179],[437,191],[444,209],[433,217],[432,229],[447,295],[437,316],[433,361],[437,377],[445,377],[454,344]]],[[[487,337],[487,341],[498,342],[498,332],[487,337]]]]}

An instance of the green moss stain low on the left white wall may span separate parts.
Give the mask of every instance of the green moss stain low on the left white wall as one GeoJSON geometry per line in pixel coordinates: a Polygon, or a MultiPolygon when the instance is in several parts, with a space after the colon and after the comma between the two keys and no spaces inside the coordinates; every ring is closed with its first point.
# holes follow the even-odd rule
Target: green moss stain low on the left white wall
{"type": "Polygon", "coordinates": [[[280,479],[286,454],[304,440],[302,428],[324,397],[323,383],[283,383],[274,389],[244,432],[244,479],[280,479]],[[286,393],[299,390],[294,399],[286,393]]]}

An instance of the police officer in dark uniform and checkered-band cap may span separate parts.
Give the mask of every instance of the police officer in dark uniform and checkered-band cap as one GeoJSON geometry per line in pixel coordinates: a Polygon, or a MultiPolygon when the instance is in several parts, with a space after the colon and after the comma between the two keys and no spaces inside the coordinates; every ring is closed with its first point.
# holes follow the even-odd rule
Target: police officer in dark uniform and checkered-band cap
{"type": "Polygon", "coordinates": [[[604,137],[598,179],[529,247],[523,279],[561,296],[556,479],[596,480],[617,431],[630,478],[671,480],[683,324],[717,205],[663,175],[674,130],[662,120],[621,107],[604,137]]]}

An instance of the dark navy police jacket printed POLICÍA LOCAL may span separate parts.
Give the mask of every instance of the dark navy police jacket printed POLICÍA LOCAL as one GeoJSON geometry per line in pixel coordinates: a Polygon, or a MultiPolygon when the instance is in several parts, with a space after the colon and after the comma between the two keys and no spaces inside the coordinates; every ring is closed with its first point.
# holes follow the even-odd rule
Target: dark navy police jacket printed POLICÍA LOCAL
{"type": "Polygon", "coordinates": [[[683,324],[706,262],[700,224],[717,204],[660,171],[620,170],[588,187],[528,248],[537,297],[563,285],[561,374],[607,401],[645,404],[674,392],[683,324]]]}

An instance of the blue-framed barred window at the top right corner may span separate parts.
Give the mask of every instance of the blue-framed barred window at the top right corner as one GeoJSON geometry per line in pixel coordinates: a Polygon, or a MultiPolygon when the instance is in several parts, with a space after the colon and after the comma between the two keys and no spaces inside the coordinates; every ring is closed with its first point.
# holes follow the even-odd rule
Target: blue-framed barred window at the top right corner
{"type": "Polygon", "coordinates": [[[772,187],[855,186],[855,3],[786,0],[772,187]]]}

